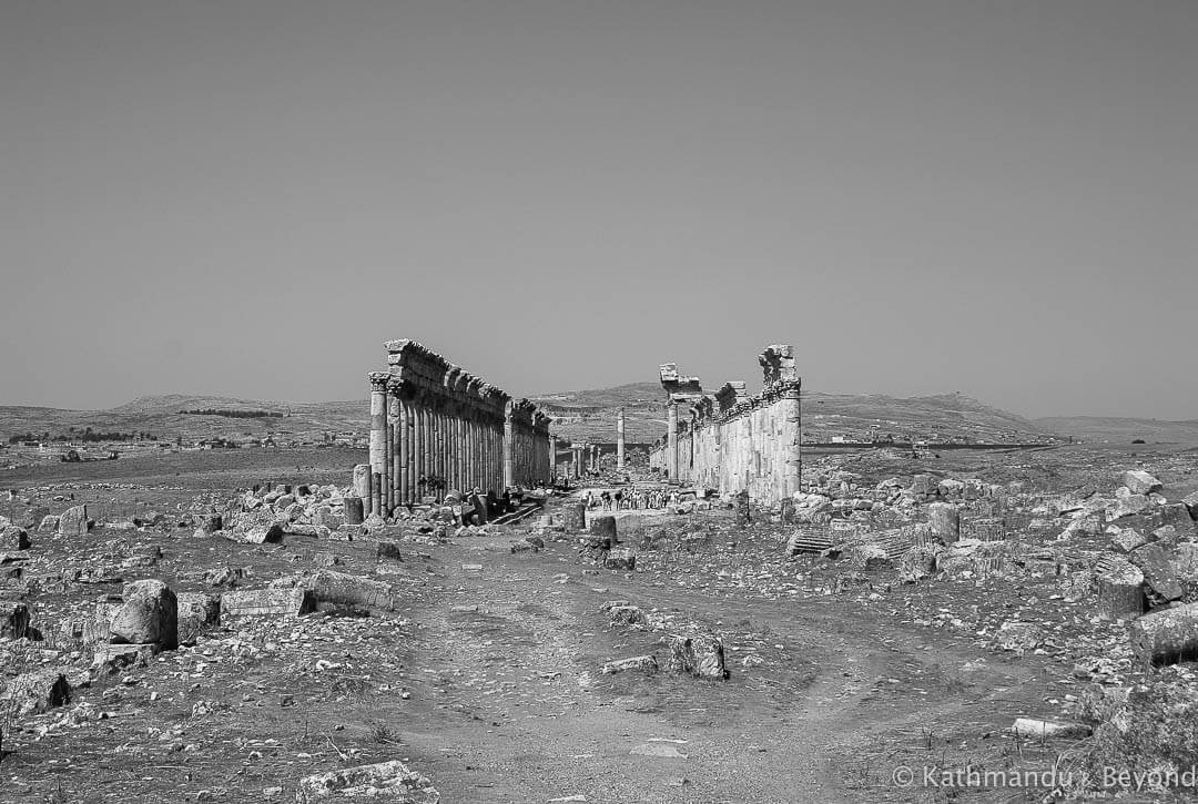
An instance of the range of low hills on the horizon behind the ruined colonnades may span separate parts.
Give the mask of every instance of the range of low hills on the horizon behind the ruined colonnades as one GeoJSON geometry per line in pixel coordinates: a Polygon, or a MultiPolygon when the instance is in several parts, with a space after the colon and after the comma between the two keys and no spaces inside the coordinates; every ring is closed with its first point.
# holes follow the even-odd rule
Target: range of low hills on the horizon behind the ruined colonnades
{"type": "MultiPolygon", "coordinates": [[[[613,388],[564,391],[531,397],[555,417],[553,429],[563,439],[613,442],[616,416],[624,409],[629,443],[651,442],[666,430],[665,392],[657,382],[634,382],[613,388]]],[[[288,403],[236,399],[202,394],[143,397],[103,411],[54,407],[0,407],[0,440],[23,433],[65,434],[69,428],[99,433],[151,433],[159,439],[250,439],[267,433],[277,440],[320,441],[325,433],[363,435],[369,427],[365,399],[329,403],[288,403]],[[195,415],[183,411],[265,411],[283,413],[262,418],[195,415]]],[[[869,441],[875,436],[921,441],[972,440],[984,442],[1041,441],[1048,433],[1131,440],[1198,441],[1198,422],[1152,419],[1051,418],[1028,421],[962,394],[932,397],[852,395],[804,391],[805,441],[834,437],[869,441]],[[1155,429],[1148,427],[1156,425],[1155,429]],[[1088,423],[1103,423],[1099,424],[1088,423]],[[1111,423],[1120,423],[1115,427],[1111,423]],[[1131,424],[1136,423],[1136,424],[1131,424]],[[1103,429],[1105,428],[1105,429],[1103,429]]]]}

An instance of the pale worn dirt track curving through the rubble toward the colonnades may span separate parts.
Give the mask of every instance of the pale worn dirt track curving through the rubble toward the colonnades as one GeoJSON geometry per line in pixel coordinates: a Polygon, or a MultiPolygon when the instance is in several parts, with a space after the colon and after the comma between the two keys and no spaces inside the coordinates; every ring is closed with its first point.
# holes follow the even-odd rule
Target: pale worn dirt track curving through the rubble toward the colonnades
{"type": "Polygon", "coordinates": [[[842,604],[728,602],[587,570],[568,543],[536,555],[507,544],[438,549],[443,590],[411,612],[425,652],[411,657],[422,681],[400,729],[447,800],[860,800],[842,784],[853,769],[837,764],[854,746],[975,717],[979,699],[1030,675],[999,663],[954,690],[944,669],[975,648],[842,604]],[[609,625],[609,599],[733,634],[732,678],[601,676],[606,660],[661,651],[660,631],[609,625]]]}

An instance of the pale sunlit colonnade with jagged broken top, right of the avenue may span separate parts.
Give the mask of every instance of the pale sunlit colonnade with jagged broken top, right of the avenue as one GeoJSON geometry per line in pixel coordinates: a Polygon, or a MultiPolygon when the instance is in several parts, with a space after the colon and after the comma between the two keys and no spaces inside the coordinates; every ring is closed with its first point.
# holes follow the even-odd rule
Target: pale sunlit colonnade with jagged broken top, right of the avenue
{"type": "Polygon", "coordinates": [[[768,346],[758,357],[764,387],[756,395],[744,382],[726,382],[706,394],[698,377],[661,365],[667,394],[666,436],[649,453],[649,469],[667,478],[720,494],[748,491],[762,503],[799,490],[801,379],[788,344],[768,346]],[[679,421],[679,410],[689,413],[679,421]]]}

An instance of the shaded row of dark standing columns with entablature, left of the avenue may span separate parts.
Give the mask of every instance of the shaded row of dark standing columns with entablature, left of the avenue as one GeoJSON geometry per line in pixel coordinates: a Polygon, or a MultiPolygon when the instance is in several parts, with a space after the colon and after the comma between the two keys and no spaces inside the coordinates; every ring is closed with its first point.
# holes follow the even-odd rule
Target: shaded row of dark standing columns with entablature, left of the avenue
{"type": "MultiPolygon", "coordinates": [[[[415,340],[388,340],[370,379],[369,512],[383,516],[442,489],[545,483],[550,418],[415,340]]],[[[365,498],[365,495],[363,495],[365,498]]]]}

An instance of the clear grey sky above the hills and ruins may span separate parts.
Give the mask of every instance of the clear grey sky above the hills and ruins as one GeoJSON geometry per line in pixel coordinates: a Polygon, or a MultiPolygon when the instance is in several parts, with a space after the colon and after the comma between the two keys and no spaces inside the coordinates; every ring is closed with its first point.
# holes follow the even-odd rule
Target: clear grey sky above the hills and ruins
{"type": "Polygon", "coordinates": [[[0,404],[655,381],[1198,418],[1193,0],[0,0],[0,404]]]}

